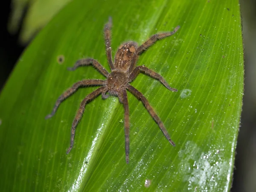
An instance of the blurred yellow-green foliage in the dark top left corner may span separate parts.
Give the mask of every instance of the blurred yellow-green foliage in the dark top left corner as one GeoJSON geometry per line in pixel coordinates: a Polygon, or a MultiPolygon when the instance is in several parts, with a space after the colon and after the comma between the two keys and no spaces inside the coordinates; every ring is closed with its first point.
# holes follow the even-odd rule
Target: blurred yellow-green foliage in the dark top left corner
{"type": "Polygon", "coordinates": [[[21,44],[27,44],[68,2],[70,0],[12,0],[9,32],[16,33],[23,22],[19,41],[21,44]]]}

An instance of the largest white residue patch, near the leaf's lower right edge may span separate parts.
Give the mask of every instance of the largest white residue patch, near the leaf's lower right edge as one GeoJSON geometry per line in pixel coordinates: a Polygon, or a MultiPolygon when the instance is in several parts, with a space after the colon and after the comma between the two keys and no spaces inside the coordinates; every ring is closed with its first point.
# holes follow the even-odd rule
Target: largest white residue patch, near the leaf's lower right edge
{"type": "Polygon", "coordinates": [[[220,189],[219,183],[223,182],[229,163],[223,160],[217,150],[203,152],[197,144],[188,141],[184,150],[179,152],[179,157],[180,175],[188,183],[186,189],[194,191],[197,188],[200,192],[227,191],[228,186],[220,189]]]}

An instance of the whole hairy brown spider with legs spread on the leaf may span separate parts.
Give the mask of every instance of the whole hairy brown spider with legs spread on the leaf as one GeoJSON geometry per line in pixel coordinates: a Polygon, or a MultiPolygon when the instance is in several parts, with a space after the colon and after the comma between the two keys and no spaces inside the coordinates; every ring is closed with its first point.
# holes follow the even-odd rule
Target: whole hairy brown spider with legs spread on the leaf
{"type": "Polygon", "coordinates": [[[81,119],[82,114],[84,113],[85,105],[93,100],[99,94],[102,94],[102,99],[107,99],[109,95],[118,96],[119,101],[124,105],[125,110],[125,154],[126,154],[126,163],[129,162],[129,108],[128,108],[128,98],[127,92],[130,91],[134,96],[136,96],[139,100],[143,102],[145,108],[147,109],[148,113],[153,117],[155,122],[160,127],[161,131],[163,132],[166,139],[175,146],[175,143],[171,140],[166,128],[163,125],[163,122],[154,112],[153,108],[149,105],[148,100],[143,96],[140,91],[135,89],[131,84],[137,75],[142,72],[148,76],[153,77],[154,79],[159,80],[167,89],[172,91],[177,91],[177,89],[172,88],[169,84],[160,76],[158,73],[148,69],[147,67],[137,66],[135,64],[139,58],[139,55],[142,54],[146,49],[148,49],[152,44],[154,44],[157,40],[166,38],[168,36],[173,35],[180,26],[177,26],[174,31],[172,32],[165,32],[165,33],[158,33],[152,35],[147,41],[145,41],[141,46],[138,47],[137,43],[134,41],[129,41],[120,45],[118,48],[116,55],[115,55],[115,62],[112,61],[111,55],[111,26],[112,26],[112,19],[109,17],[108,23],[105,25],[104,34],[105,34],[105,44],[106,44],[106,54],[108,58],[108,64],[111,68],[111,73],[108,73],[98,61],[92,58],[84,58],[81,60],[76,61],[73,67],[68,68],[68,70],[76,70],[77,67],[87,66],[92,64],[99,70],[102,75],[104,75],[107,79],[106,80],[99,80],[99,79],[92,79],[92,80],[82,80],[79,81],[71,88],[66,90],[57,100],[55,106],[52,110],[52,113],[47,115],[45,118],[48,119],[52,117],[58,106],[63,102],[68,96],[75,93],[79,87],[83,86],[102,86],[98,89],[94,90],[92,93],[87,95],[84,100],[81,102],[80,108],[76,113],[76,117],[73,120],[72,128],[71,128],[71,139],[70,139],[70,147],[67,150],[67,154],[73,148],[74,144],[74,137],[76,126],[81,119]],[[109,93],[108,95],[106,93],[109,93]]]}

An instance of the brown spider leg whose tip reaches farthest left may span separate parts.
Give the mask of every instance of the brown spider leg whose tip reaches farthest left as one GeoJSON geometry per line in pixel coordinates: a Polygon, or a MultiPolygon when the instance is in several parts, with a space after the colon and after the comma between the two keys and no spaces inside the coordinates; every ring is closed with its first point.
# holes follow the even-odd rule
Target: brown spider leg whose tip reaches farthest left
{"type": "Polygon", "coordinates": [[[61,96],[59,96],[59,98],[57,99],[57,101],[54,105],[52,113],[47,115],[45,117],[45,119],[49,119],[50,117],[52,117],[55,114],[55,112],[57,111],[58,106],[61,104],[61,102],[63,102],[65,99],[67,99],[67,97],[69,97],[70,95],[75,93],[79,87],[90,86],[90,85],[97,86],[97,85],[104,85],[104,84],[105,84],[105,81],[99,80],[99,79],[78,81],[77,83],[73,84],[73,86],[70,87],[68,90],[66,90],[61,96]]]}

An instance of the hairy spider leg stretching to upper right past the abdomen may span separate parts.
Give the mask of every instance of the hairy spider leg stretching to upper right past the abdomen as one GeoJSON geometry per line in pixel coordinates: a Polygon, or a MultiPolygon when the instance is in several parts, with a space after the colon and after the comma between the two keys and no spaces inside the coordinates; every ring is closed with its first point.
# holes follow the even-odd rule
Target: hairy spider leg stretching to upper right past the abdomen
{"type": "Polygon", "coordinates": [[[138,55],[142,54],[146,49],[148,49],[151,45],[153,45],[157,40],[169,37],[173,34],[175,34],[175,32],[177,32],[177,30],[180,28],[180,26],[175,27],[175,29],[172,32],[165,32],[165,33],[157,33],[155,35],[152,35],[147,41],[145,41],[140,47],[138,47],[138,49],[136,49],[136,51],[134,52],[132,61],[131,61],[131,66],[128,70],[129,73],[131,73],[134,70],[136,61],[137,61],[137,57],[138,55]]]}

